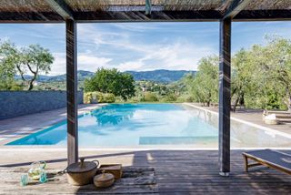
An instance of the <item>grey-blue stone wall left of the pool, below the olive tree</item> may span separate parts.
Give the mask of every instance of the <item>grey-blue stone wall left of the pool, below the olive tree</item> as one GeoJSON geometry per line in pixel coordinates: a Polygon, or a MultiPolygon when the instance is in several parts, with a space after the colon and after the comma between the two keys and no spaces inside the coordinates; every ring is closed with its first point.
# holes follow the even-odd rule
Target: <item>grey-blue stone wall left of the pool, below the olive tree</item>
{"type": "MultiPolygon", "coordinates": [[[[78,91],[78,104],[83,104],[83,91],[78,91]]],[[[65,107],[65,91],[0,91],[0,119],[65,107]]]]}

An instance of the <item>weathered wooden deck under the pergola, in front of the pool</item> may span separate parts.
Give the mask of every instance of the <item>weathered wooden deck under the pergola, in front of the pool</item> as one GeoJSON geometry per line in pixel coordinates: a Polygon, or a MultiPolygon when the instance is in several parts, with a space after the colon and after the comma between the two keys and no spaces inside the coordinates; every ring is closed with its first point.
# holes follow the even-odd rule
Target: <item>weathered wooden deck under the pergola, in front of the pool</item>
{"type": "MultiPolygon", "coordinates": [[[[291,153],[291,151],[285,151],[291,153]]],[[[244,172],[241,150],[231,151],[231,175],[218,175],[217,150],[144,150],[80,151],[80,156],[101,163],[121,162],[127,169],[155,168],[159,194],[291,194],[291,176],[273,169],[257,167],[244,172]]],[[[0,150],[0,194],[100,194],[92,188],[75,188],[66,181],[51,181],[35,186],[19,186],[19,170],[27,170],[31,161],[45,159],[48,169],[64,169],[66,151],[18,149],[0,150]]],[[[148,193],[143,187],[125,188],[114,193],[148,193]],[[131,189],[133,188],[133,189],[131,189]]],[[[110,193],[110,190],[103,191],[110,193]]]]}

